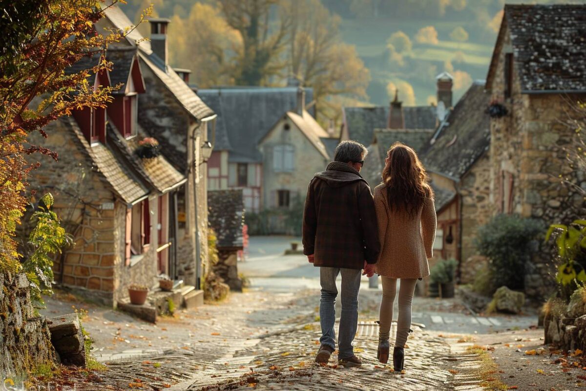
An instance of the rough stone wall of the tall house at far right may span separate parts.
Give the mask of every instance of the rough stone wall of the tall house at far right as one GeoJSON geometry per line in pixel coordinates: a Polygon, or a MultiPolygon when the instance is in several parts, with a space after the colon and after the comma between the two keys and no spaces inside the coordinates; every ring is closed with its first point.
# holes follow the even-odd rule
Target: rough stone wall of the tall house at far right
{"type": "MultiPolygon", "coordinates": [[[[568,108],[577,97],[522,94],[519,79],[514,77],[512,97],[505,98],[504,62],[505,53],[510,51],[508,31],[505,37],[495,49],[498,53],[495,78],[492,86],[487,86],[493,99],[502,101],[509,110],[505,117],[490,121],[490,198],[496,213],[515,212],[542,219],[547,225],[567,224],[584,217],[585,210],[582,196],[565,187],[559,178],[560,174],[571,176],[564,148],[574,137],[573,130],[560,121],[567,118],[568,108]],[[509,194],[505,194],[507,182],[512,183],[510,208],[507,208],[509,194]]],[[[517,75],[517,69],[513,74],[517,75]]],[[[573,178],[581,185],[578,179],[584,178],[573,178]]],[[[526,266],[525,291],[532,298],[546,296],[553,283],[549,277],[553,271],[553,246],[547,244],[540,249],[540,243],[535,242],[536,255],[526,266]]]]}

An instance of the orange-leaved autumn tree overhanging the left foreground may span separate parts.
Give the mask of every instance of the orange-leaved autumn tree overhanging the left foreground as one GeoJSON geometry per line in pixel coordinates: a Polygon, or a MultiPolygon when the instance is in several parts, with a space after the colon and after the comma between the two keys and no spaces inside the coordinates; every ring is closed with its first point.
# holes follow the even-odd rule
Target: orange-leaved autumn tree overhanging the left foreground
{"type": "MultiPolygon", "coordinates": [[[[123,2],[122,0],[120,0],[123,2]]],[[[103,53],[125,32],[100,35],[94,23],[104,9],[119,0],[39,0],[3,2],[0,6],[0,270],[17,271],[14,233],[26,205],[26,178],[38,163],[26,155],[57,155],[28,144],[28,135],[51,121],[84,107],[105,107],[115,87],[95,90],[90,73],[104,72],[111,63],[68,73],[83,56],[103,53]]],[[[143,15],[147,16],[147,14],[143,15]]],[[[126,32],[130,30],[130,26],[126,32]]]]}

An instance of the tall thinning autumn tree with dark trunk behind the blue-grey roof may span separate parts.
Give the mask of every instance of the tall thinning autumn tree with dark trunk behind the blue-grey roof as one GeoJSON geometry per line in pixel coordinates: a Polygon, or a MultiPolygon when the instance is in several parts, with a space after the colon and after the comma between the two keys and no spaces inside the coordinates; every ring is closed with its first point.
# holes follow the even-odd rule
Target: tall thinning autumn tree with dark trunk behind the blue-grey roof
{"type": "Polygon", "coordinates": [[[226,23],[236,30],[242,46],[236,56],[236,84],[258,86],[284,67],[281,52],[287,43],[290,19],[280,13],[280,20],[271,28],[271,11],[278,0],[219,0],[226,23]]]}

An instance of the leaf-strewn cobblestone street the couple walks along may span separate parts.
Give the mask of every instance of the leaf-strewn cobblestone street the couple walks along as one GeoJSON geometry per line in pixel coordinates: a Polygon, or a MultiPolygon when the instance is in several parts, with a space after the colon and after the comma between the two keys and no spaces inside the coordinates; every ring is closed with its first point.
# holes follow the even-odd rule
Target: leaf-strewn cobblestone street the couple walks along
{"type": "Polygon", "coordinates": [[[466,351],[470,335],[528,327],[536,320],[475,316],[457,300],[415,298],[406,371],[393,373],[392,365],[376,360],[380,290],[369,289],[365,277],[355,340],[363,366],[338,368],[334,354],[322,367],[314,363],[320,335],[318,269],[304,257],[281,256],[282,239],[281,244],[270,240],[253,239],[248,260],[239,265],[251,276],[244,293],[163,317],[156,325],[65,294],[51,300],[49,313],[63,313],[71,305],[88,311],[84,327],[96,341],[94,355],[107,365],[80,378],[76,390],[473,390],[480,379],[478,358],[466,351]],[[262,249],[264,254],[254,252],[262,249]]]}

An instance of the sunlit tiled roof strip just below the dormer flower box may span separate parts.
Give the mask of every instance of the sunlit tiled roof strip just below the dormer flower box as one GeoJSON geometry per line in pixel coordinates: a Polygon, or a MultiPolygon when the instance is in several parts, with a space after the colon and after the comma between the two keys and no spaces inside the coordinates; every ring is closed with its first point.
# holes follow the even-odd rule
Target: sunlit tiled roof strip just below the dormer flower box
{"type": "Polygon", "coordinates": [[[163,155],[152,159],[141,159],[135,154],[135,150],[138,148],[138,141],[147,137],[147,134],[140,127],[138,127],[137,137],[127,140],[122,137],[112,121],[110,121],[107,135],[108,141],[113,142],[121,151],[128,164],[131,164],[142,178],[159,192],[167,192],[185,182],[185,176],[173,168],[163,155]]]}

